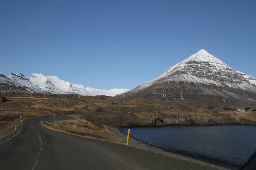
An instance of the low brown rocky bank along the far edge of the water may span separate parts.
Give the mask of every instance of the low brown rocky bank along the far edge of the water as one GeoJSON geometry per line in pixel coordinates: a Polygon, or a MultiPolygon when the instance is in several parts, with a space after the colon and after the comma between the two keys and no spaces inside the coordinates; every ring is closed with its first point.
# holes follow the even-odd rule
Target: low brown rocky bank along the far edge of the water
{"type": "Polygon", "coordinates": [[[236,119],[231,113],[183,113],[166,109],[154,109],[152,112],[130,113],[111,112],[84,114],[90,122],[99,122],[112,127],[152,127],[169,125],[256,125],[256,121],[246,118],[236,119]]]}

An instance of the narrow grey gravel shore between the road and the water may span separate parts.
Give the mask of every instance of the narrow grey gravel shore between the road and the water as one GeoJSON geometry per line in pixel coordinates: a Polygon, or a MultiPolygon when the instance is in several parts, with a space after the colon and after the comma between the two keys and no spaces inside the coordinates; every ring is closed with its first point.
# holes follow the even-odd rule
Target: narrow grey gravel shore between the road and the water
{"type": "MultiPolygon", "coordinates": [[[[113,133],[115,136],[117,136],[119,139],[121,139],[122,144],[126,144],[127,133],[123,133],[120,130],[120,128],[116,128],[116,127],[108,127],[108,129],[111,133],[113,133]]],[[[242,167],[237,164],[231,164],[231,163],[220,161],[217,159],[212,159],[212,158],[209,158],[206,156],[200,156],[200,155],[196,156],[196,155],[193,155],[192,153],[189,154],[189,153],[185,153],[185,152],[178,151],[178,150],[164,149],[161,147],[154,146],[152,144],[148,144],[147,142],[143,142],[140,139],[136,139],[131,136],[129,139],[129,145],[132,147],[137,147],[137,148],[143,149],[143,150],[161,153],[163,155],[170,156],[173,158],[192,161],[192,162],[196,162],[198,164],[204,164],[206,166],[211,166],[211,167],[215,167],[217,169],[222,169],[222,170],[227,170],[227,169],[239,170],[242,167]]]]}

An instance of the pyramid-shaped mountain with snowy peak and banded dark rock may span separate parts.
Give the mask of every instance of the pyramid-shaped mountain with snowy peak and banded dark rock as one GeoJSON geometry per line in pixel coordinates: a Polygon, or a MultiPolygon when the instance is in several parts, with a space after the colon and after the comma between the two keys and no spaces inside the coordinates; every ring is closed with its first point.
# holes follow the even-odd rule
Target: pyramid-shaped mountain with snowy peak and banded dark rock
{"type": "Polygon", "coordinates": [[[256,79],[235,71],[220,59],[200,50],[118,98],[190,100],[204,105],[256,105],[256,79]]]}

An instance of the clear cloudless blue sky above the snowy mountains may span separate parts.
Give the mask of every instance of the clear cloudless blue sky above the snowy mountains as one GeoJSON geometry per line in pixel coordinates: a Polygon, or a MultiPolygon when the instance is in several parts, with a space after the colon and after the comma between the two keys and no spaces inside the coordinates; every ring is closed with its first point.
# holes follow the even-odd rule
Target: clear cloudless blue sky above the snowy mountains
{"type": "Polygon", "coordinates": [[[255,0],[2,0],[0,73],[134,88],[200,49],[256,77],[255,0]]]}

